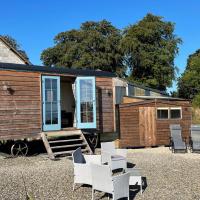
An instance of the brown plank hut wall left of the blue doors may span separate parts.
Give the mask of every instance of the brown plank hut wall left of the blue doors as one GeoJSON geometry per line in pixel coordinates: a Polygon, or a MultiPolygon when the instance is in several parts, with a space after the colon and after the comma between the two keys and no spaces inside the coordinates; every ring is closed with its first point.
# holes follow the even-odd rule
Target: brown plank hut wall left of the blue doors
{"type": "Polygon", "coordinates": [[[0,71],[0,140],[41,132],[40,74],[0,71]]]}

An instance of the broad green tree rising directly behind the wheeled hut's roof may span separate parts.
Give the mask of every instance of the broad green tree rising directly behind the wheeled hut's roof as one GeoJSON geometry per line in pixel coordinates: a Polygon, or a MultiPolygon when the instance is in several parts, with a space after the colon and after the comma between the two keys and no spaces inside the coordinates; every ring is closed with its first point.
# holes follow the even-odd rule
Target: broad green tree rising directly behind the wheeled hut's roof
{"type": "Polygon", "coordinates": [[[44,50],[41,60],[47,66],[100,69],[124,74],[120,51],[120,30],[110,22],[87,21],[78,30],[59,33],[55,46],[44,50]]]}

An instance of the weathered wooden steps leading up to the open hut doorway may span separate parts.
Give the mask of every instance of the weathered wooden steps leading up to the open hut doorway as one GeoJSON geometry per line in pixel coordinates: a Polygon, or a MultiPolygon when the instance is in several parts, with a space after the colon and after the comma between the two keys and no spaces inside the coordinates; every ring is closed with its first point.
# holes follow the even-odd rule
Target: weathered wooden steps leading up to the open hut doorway
{"type": "Polygon", "coordinates": [[[92,153],[85,136],[78,129],[42,132],[41,137],[48,156],[52,160],[58,156],[71,156],[78,147],[81,147],[84,153],[92,153]]]}

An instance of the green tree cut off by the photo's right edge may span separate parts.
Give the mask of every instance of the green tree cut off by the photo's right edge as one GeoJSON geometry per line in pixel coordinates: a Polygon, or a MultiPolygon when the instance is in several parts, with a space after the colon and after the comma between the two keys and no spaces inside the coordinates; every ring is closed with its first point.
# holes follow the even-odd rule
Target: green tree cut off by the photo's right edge
{"type": "Polygon", "coordinates": [[[186,99],[200,94],[200,49],[188,57],[186,69],[178,79],[178,94],[186,99]]]}

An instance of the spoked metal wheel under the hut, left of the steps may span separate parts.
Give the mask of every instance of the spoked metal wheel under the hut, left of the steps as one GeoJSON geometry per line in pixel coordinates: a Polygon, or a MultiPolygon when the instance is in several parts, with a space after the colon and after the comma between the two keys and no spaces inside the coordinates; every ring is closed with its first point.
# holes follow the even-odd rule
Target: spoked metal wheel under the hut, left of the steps
{"type": "Polygon", "coordinates": [[[28,145],[26,142],[15,142],[11,147],[11,155],[13,157],[26,156],[28,153],[28,145]]]}

